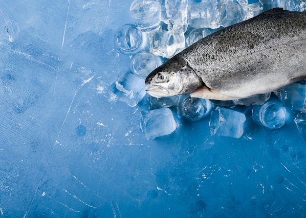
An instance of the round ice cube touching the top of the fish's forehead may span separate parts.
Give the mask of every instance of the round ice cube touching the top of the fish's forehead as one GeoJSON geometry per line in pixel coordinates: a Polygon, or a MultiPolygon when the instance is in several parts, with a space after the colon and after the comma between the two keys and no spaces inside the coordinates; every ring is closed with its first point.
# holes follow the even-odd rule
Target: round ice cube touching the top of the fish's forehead
{"type": "Polygon", "coordinates": [[[146,77],[159,65],[162,60],[159,56],[154,56],[148,52],[141,52],[135,55],[130,61],[131,72],[135,76],[146,79],[146,77]]]}

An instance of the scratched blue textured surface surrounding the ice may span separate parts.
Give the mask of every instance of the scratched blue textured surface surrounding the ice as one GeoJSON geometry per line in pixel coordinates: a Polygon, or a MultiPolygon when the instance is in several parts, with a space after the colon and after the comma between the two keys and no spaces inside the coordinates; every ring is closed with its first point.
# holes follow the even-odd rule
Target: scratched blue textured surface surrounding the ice
{"type": "Polygon", "coordinates": [[[145,139],[146,99],[110,89],[128,55],[114,32],[131,0],[0,4],[0,218],[305,217],[306,143],[283,128],[211,136],[176,119],[145,139]]]}

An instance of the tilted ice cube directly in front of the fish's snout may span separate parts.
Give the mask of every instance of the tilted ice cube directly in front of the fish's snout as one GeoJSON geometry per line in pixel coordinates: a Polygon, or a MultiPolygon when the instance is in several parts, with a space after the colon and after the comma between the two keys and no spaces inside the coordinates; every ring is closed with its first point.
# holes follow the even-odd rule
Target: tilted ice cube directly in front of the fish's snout
{"type": "Polygon", "coordinates": [[[146,95],[145,80],[135,77],[131,72],[121,71],[111,88],[120,100],[131,107],[136,106],[146,95]]]}

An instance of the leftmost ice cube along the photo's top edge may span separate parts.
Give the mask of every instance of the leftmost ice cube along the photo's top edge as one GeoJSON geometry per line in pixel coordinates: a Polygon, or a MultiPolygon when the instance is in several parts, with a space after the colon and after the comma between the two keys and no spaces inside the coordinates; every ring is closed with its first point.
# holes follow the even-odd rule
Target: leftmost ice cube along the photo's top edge
{"type": "Polygon", "coordinates": [[[160,3],[156,0],[134,0],[130,12],[141,30],[151,31],[160,26],[160,3]]]}

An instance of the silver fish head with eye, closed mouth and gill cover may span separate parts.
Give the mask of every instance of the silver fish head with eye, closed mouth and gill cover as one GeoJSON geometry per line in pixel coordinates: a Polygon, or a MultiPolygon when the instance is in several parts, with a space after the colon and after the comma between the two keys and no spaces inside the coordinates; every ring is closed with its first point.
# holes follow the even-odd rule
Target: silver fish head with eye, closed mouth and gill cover
{"type": "Polygon", "coordinates": [[[174,57],[153,70],[145,83],[149,95],[161,98],[192,93],[202,80],[185,60],[174,57]]]}

